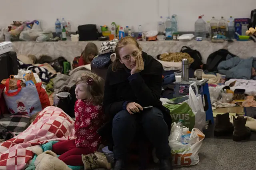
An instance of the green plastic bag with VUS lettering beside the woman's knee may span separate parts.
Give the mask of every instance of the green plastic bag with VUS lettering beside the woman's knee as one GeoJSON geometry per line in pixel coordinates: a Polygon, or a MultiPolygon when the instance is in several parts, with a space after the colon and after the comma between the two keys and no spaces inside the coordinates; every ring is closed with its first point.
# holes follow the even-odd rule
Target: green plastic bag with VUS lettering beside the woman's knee
{"type": "Polygon", "coordinates": [[[191,131],[195,126],[196,117],[188,103],[184,102],[180,105],[166,104],[164,107],[170,110],[172,122],[178,122],[179,119],[183,119],[183,125],[188,127],[191,131]]]}

